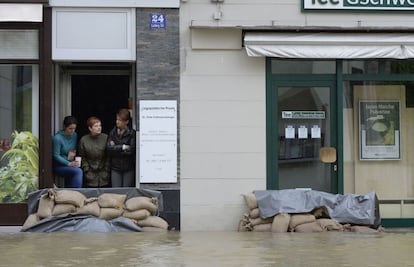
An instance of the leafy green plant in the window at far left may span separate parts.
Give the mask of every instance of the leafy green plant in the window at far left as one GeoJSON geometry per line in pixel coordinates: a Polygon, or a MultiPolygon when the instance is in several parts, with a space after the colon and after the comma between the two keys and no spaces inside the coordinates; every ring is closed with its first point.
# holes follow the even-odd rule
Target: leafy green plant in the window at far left
{"type": "Polygon", "coordinates": [[[39,141],[31,132],[13,132],[12,145],[1,160],[7,159],[0,168],[1,202],[24,202],[30,192],[38,189],[39,141]]]}

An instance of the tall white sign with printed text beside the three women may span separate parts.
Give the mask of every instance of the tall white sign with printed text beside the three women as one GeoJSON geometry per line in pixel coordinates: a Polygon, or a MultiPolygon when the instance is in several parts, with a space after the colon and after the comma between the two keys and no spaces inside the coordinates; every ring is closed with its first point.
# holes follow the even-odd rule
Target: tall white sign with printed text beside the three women
{"type": "Polygon", "coordinates": [[[177,101],[139,102],[140,183],[177,182],[177,101]]]}

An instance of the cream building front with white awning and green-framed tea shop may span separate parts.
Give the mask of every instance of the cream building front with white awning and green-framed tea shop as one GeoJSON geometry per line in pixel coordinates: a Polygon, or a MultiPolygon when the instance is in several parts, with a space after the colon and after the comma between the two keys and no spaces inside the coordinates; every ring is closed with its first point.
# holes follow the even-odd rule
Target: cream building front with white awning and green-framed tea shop
{"type": "Polygon", "coordinates": [[[242,194],[286,188],[374,191],[411,225],[412,8],[182,1],[181,228],[234,230],[242,194]]]}

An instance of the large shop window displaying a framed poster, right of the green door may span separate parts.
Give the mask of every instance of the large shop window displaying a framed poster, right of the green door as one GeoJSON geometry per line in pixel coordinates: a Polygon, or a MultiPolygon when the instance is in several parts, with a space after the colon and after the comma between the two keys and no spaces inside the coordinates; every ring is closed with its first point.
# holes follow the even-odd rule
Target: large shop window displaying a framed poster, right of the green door
{"type": "MultiPolygon", "coordinates": [[[[343,111],[344,183],[351,193],[376,192],[381,217],[414,214],[412,81],[349,81],[343,111]],[[408,98],[411,98],[409,100],[408,98]],[[402,201],[402,202],[401,202],[402,201]],[[408,201],[408,202],[409,202],[408,201]],[[396,205],[392,203],[397,203],[396,205]]],[[[412,217],[412,216],[411,216],[412,217]]]]}

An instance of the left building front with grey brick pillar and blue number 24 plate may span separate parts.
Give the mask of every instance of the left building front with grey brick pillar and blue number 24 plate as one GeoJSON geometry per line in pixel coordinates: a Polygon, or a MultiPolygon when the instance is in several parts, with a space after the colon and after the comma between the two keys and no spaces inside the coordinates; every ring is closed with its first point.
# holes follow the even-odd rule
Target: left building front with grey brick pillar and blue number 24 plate
{"type": "MultiPolygon", "coordinates": [[[[0,39],[0,64],[6,70],[0,76],[0,108],[1,121],[7,127],[2,127],[0,135],[0,208],[5,209],[0,224],[21,225],[28,215],[24,203],[27,194],[59,183],[52,172],[51,138],[62,128],[65,116],[78,119],[78,136],[87,133],[89,116],[99,117],[103,132],[108,133],[115,125],[116,112],[128,108],[139,141],[136,185],[163,191],[166,204],[162,216],[172,228],[179,229],[178,111],[175,109],[172,115],[164,116],[168,117],[169,125],[175,122],[167,129],[170,132],[175,129],[173,138],[162,140],[169,145],[168,157],[160,156],[164,146],[148,145],[165,129],[151,128],[154,122],[147,119],[143,130],[151,135],[141,138],[138,119],[140,102],[152,112],[158,106],[170,108],[179,101],[178,7],[178,0],[52,0],[38,4],[25,1],[2,4],[0,25],[4,31],[0,39]],[[21,31],[26,24],[29,29],[37,28],[21,31]],[[16,48],[13,50],[13,47],[16,48]],[[9,66],[15,61],[24,64],[23,67],[9,66]],[[35,65],[29,68],[26,64],[35,65]],[[14,146],[27,150],[18,145],[21,135],[17,135],[26,133],[36,143],[29,149],[36,156],[11,157],[15,155],[14,146]],[[141,149],[143,144],[146,149],[141,149]],[[146,157],[140,158],[141,153],[146,157]],[[168,179],[162,176],[163,168],[154,167],[155,160],[162,163],[166,157],[170,169],[170,161],[174,163],[168,179]],[[12,172],[16,161],[21,162],[19,166],[34,164],[27,164],[32,168],[24,172],[12,172]],[[19,186],[22,181],[23,187],[19,186]],[[10,218],[11,214],[15,216],[10,218]]],[[[164,114],[145,114],[165,124],[160,119],[164,114]]]]}

